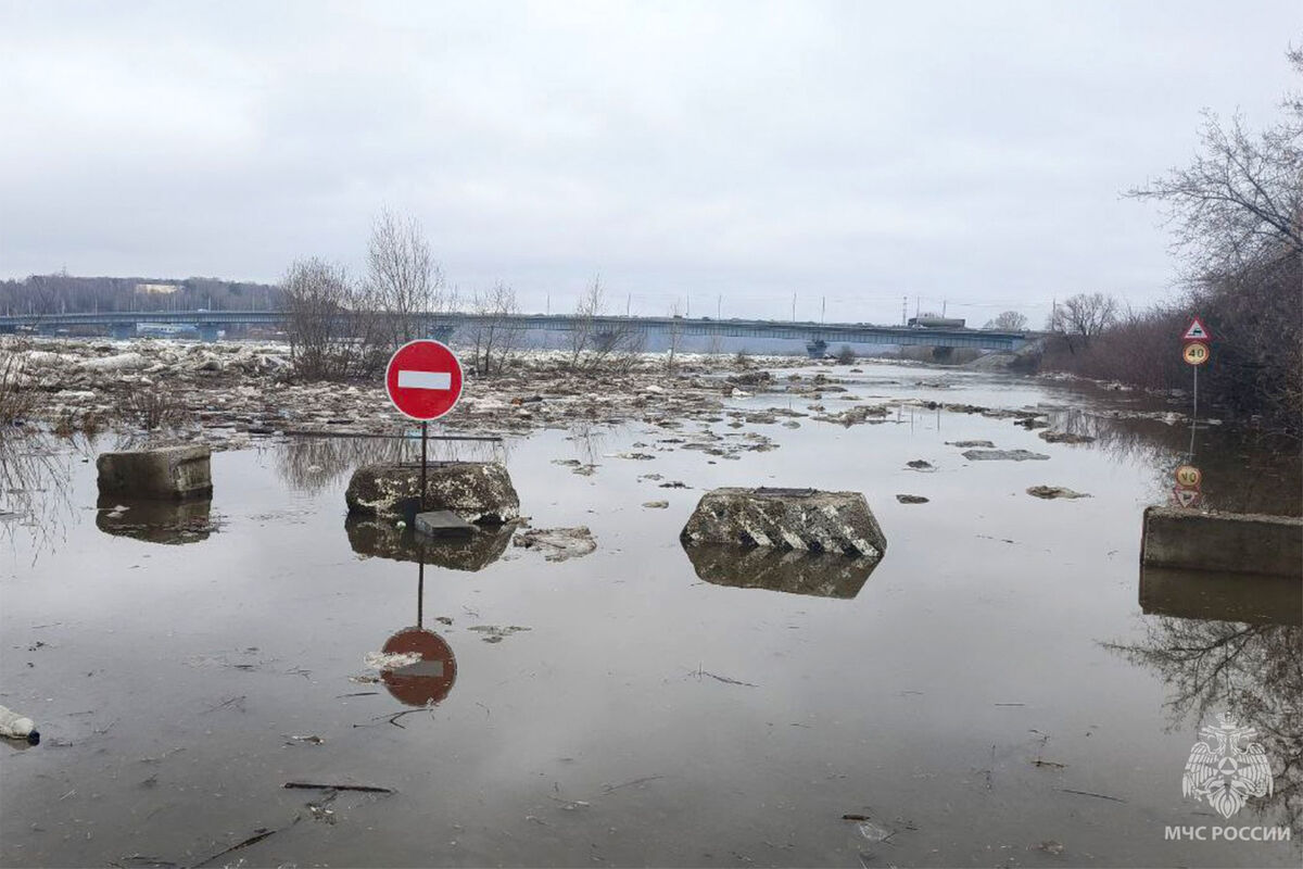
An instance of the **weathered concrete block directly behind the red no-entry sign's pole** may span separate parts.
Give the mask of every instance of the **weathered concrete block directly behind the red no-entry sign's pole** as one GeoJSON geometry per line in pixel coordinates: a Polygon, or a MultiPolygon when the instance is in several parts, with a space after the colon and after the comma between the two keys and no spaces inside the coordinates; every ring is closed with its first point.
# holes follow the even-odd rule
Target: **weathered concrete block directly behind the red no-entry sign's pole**
{"type": "Polygon", "coordinates": [[[468,522],[502,524],[520,516],[520,496],[495,461],[442,461],[429,466],[421,503],[421,465],[364,465],[344,495],[348,512],[413,521],[416,513],[452,511],[468,522]]]}

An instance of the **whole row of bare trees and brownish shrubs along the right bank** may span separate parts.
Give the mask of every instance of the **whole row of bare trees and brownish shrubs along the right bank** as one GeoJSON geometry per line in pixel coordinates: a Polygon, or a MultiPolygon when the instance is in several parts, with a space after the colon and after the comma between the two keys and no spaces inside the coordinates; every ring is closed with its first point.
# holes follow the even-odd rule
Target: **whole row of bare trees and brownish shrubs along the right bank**
{"type": "MultiPolygon", "coordinates": [[[[1303,74],[1303,50],[1289,52],[1303,74]]],[[[1253,133],[1207,112],[1194,162],[1126,193],[1162,206],[1181,294],[1131,310],[1104,293],[1055,305],[1042,365],[1153,390],[1188,388],[1181,335],[1213,335],[1199,391],[1221,412],[1303,430],[1303,96],[1253,133]]]]}

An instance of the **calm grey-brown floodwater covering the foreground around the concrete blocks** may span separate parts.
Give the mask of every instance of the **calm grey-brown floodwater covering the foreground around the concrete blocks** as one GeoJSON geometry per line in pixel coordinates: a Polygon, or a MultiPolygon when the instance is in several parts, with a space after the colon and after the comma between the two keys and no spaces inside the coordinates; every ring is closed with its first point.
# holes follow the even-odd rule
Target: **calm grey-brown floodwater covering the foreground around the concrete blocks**
{"type": "MultiPolygon", "coordinates": [[[[1234,818],[1293,821],[1294,842],[1165,840],[1224,823],[1182,799],[1200,723],[1231,709],[1277,773],[1303,737],[1296,586],[1246,603],[1158,577],[1141,607],[1140,513],[1166,500],[1188,429],[1035,380],[821,370],[860,400],[1041,406],[1098,440],[915,408],[852,427],[724,417],[724,455],[674,443],[697,422],[444,447],[504,460],[536,528],[585,525],[597,550],[547,562],[498,541],[425,564],[345,526],[351,468],[391,443],[218,453],[211,504],[136,522],[96,509],[94,449],[59,457],[34,526],[0,526],[0,702],[44,736],[0,745],[3,862],[1296,865],[1296,766],[1234,818]],[[1050,459],[946,444],[969,439],[1050,459]],[[736,485],[863,491],[886,558],[868,576],[694,563],[679,529],[736,485]],[[414,685],[371,681],[367,653],[417,625],[443,659],[414,685]],[[423,696],[440,700],[404,702],[423,696]]],[[[1195,453],[1213,506],[1298,512],[1296,448],[1210,426],[1195,453]]]]}

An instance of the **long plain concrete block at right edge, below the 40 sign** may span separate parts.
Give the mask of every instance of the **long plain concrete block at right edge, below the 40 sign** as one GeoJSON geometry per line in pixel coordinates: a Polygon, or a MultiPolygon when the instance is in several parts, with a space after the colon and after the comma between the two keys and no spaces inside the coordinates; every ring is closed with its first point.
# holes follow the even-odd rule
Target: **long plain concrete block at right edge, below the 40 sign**
{"type": "Polygon", "coordinates": [[[1144,512],[1140,563],[1303,577],[1303,519],[1149,507],[1144,512]]]}

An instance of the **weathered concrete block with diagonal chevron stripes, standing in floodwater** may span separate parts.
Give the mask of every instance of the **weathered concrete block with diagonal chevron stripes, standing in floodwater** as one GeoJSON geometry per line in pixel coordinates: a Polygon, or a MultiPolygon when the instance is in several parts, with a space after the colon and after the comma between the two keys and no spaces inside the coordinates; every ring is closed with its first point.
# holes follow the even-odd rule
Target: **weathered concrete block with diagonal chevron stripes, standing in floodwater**
{"type": "Polygon", "coordinates": [[[701,496],[679,537],[874,559],[887,551],[864,495],[813,489],[715,489],[701,496]]]}

